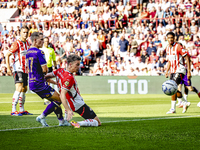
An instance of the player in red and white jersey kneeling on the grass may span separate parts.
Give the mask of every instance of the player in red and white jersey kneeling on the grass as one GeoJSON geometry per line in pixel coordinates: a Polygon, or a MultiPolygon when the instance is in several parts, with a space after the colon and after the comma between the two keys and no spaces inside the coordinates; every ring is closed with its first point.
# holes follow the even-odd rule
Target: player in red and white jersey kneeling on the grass
{"type": "MultiPolygon", "coordinates": [[[[72,126],[76,128],[79,128],[80,126],[100,126],[101,122],[95,112],[83,101],[77,82],[73,76],[73,73],[76,73],[79,70],[80,60],[81,58],[78,55],[69,55],[67,57],[68,66],[66,69],[59,68],[52,73],[48,73],[45,78],[56,77],[60,99],[65,109],[69,106],[73,112],[77,112],[86,119],[80,122],[71,121],[72,126]]],[[[68,117],[67,115],[68,114],[65,115],[65,118],[68,117]]]]}

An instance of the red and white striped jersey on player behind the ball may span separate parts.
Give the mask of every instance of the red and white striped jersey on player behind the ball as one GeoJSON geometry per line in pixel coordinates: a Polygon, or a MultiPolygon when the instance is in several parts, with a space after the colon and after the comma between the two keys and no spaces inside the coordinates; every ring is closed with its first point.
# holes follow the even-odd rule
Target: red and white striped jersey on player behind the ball
{"type": "Polygon", "coordinates": [[[183,57],[187,55],[187,51],[180,44],[174,43],[172,47],[167,46],[166,53],[168,63],[171,65],[170,72],[176,73],[180,65],[184,66],[185,62],[183,57]]]}

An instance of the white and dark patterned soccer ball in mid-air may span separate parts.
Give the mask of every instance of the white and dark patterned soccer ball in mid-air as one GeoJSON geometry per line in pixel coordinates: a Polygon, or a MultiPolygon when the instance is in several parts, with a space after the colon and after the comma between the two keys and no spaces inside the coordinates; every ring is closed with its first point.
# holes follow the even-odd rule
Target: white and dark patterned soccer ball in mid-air
{"type": "Polygon", "coordinates": [[[162,84],[162,91],[166,95],[174,95],[177,92],[178,86],[175,81],[167,80],[162,84]]]}

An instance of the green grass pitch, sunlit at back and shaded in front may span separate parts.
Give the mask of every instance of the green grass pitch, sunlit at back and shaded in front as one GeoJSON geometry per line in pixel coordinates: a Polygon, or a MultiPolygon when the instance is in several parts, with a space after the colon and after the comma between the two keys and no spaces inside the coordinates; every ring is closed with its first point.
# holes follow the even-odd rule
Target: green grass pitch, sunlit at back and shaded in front
{"type": "MultiPolygon", "coordinates": [[[[189,95],[185,114],[166,115],[171,106],[166,95],[82,95],[102,121],[100,127],[58,127],[35,121],[46,105],[35,94],[26,95],[25,109],[32,116],[10,116],[12,94],[0,94],[0,150],[199,150],[200,101],[189,95]]],[[[18,106],[17,106],[18,108],[18,106]]],[[[73,120],[83,120],[75,114],[73,120]]]]}

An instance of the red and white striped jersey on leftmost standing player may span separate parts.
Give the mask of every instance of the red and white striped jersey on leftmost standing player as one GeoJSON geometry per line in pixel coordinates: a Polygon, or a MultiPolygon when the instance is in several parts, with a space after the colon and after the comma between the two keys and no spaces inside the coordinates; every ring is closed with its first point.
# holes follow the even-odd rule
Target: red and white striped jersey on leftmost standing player
{"type": "Polygon", "coordinates": [[[15,41],[9,52],[13,53],[14,56],[14,63],[13,63],[13,72],[15,71],[22,71],[26,72],[26,52],[30,48],[29,42],[22,42],[21,40],[15,41]]]}

